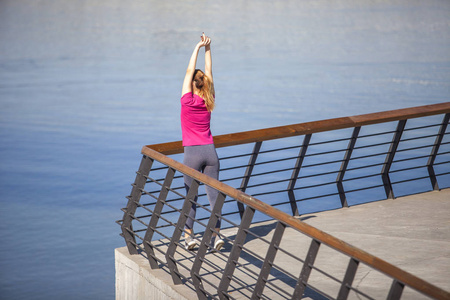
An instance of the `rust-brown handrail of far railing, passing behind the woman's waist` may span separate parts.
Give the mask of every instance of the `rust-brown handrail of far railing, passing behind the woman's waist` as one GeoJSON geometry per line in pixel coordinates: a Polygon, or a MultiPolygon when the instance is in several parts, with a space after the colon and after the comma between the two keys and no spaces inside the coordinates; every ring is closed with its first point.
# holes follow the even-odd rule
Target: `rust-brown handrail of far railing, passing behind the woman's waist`
{"type": "MultiPolygon", "coordinates": [[[[218,135],[214,137],[214,145],[216,148],[221,148],[444,113],[450,113],[450,102],[218,135]]],[[[142,148],[142,153],[147,148],[153,149],[165,155],[183,153],[181,141],[146,145],[142,148]]]]}

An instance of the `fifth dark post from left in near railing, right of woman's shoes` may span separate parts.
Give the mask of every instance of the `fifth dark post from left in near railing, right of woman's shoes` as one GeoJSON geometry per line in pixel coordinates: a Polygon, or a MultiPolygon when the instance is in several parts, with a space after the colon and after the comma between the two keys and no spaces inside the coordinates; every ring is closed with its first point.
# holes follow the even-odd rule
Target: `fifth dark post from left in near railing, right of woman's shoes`
{"type": "Polygon", "coordinates": [[[233,247],[231,248],[230,255],[228,256],[228,261],[225,266],[225,270],[222,274],[222,279],[220,280],[217,292],[220,299],[228,299],[228,287],[231,283],[231,278],[233,277],[234,270],[241,255],[242,248],[244,247],[245,239],[247,238],[247,231],[253,220],[253,215],[255,214],[255,209],[247,206],[244,211],[244,215],[239,225],[239,230],[234,240],[233,247]]]}

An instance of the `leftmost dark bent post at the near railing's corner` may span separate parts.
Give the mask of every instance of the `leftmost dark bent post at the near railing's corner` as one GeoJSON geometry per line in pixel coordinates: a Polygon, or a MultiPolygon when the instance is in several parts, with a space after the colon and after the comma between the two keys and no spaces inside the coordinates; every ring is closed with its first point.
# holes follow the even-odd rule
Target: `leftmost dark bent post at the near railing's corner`
{"type": "Polygon", "coordinates": [[[143,156],[141,160],[141,164],[139,166],[139,170],[136,172],[136,179],[133,183],[133,188],[131,189],[131,194],[128,196],[128,203],[126,210],[123,215],[122,222],[122,234],[125,238],[125,242],[127,243],[128,252],[130,254],[138,254],[136,248],[136,238],[133,233],[132,221],[134,217],[134,213],[137,209],[137,203],[142,196],[142,190],[144,189],[145,183],[147,182],[147,176],[150,173],[150,169],[153,164],[153,159],[148,156],[143,156]]]}

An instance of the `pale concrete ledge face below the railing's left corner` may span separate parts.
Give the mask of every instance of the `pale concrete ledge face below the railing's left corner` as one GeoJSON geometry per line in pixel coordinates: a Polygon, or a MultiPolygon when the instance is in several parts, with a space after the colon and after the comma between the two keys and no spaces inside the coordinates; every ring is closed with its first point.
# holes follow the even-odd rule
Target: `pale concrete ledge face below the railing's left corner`
{"type": "Polygon", "coordinates": [[[115,249],[116,300],[197,299],[186,285],[173,285],[163,270],[152,270],[142,255],[130,255],[127,247],[115,249]]]}

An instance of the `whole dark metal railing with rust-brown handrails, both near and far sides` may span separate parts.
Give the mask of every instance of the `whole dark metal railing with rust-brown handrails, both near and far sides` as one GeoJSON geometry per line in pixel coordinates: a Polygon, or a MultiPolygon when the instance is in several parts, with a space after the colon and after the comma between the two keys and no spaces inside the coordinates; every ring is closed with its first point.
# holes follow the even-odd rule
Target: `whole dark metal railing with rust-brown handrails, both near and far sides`
{"type": "Polygon", "coordinates": [[[370,289],[353,284],[364,268],[387,279],[387,299],[399,299],[405,287],[449,299],[448,292],[299,217],[394,198],[394,191],[449,187],[449,118],[447,102],[217,136],[220,181],[166,156],[182,153],[181,142],[144,146],[118,221],[122,235],[130,254],[146,255],[151,268],[167,269],[175,284],[191,286],[199,299],[299,299],[308,293],[373,299],[370,289]],[[187,195],[183,174],[194,179],[187,195]],[[215,207],[203,204],[208,201],[201,185],[219,191],[215,207]],[[184,250],[182,235],[197,194],[200,244],[191,252],[184,250]],[[218,218],[226,247],[211,253],[218,218]],[[291,249],[286,236],[302,242],[291,249]],[[316,261],[319,249],[344,258],[346,266],[327,270],[316,261]],[[321,288],[324,281],[316,277],[336,287],[321,288]]]}

